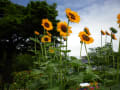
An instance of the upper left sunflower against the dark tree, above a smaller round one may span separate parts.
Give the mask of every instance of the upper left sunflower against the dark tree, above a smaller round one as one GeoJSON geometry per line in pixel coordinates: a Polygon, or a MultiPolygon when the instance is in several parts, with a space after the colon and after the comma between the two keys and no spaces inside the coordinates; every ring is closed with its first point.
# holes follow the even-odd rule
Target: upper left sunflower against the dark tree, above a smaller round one
{"type": "Polygon", "coordinates": [[[48,19],[42,19],[43,28],[47,31],[53,30],[52,22],[50,22],[48,19]]]}

